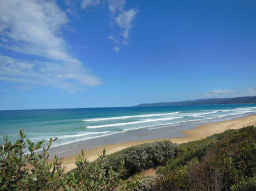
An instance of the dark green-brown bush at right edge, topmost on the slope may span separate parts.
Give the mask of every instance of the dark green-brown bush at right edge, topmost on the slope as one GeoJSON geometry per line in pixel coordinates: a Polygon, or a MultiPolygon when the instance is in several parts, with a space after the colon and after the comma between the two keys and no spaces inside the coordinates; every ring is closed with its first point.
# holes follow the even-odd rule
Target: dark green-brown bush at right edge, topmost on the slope
{"type": "Polygon", "coordinates": [[[231,134],[214,148],[212,159],[203,169],[223,173],[227,187],[243,177],[256,174],[256,128],[249,126],[231,134]]]}

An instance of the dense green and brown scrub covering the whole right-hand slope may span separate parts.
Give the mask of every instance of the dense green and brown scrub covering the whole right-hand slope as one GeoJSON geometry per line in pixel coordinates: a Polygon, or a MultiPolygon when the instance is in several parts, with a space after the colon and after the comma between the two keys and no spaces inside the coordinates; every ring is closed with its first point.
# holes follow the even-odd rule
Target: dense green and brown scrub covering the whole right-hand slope
{"type": "Polygon", "coordinates": [[[255,146],[253,126],[182,144],[177,158],[159,171],[163,176],[155,189],[230,190],[232,184],[255,175],[255,146]]]}

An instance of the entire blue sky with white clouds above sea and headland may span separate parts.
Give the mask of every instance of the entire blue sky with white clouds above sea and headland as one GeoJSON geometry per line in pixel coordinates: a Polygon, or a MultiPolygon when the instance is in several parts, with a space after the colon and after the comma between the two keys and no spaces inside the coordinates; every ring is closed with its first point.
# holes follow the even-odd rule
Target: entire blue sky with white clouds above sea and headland
{"type": "Polygon", "coordinates": [[[2,0],[0,110],[256,96],[256,1],[2,0]]]}

